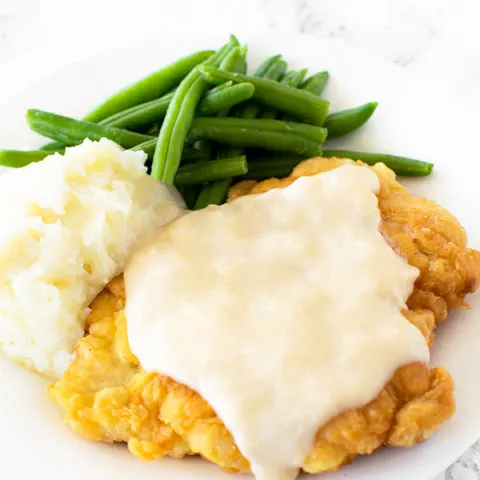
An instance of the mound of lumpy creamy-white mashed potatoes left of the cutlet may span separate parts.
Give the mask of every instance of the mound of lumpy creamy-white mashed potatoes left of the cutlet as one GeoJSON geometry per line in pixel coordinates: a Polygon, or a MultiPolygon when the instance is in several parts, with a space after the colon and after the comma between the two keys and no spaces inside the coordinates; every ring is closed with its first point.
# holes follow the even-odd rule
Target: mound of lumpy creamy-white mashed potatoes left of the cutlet
{"type": "Polygon", "coordinates": [[[182,213],[143,152],[85,141],[0,176],[0,351],[61,376],[88,305],[153,230],[182,213]]]}

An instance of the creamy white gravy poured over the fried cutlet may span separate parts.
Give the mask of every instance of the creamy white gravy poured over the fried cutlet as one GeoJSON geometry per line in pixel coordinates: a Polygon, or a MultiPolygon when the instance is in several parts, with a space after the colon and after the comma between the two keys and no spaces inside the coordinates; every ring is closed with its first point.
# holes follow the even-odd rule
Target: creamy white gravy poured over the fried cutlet
{"type": "Polygon", "coordinates": [[[320,426],[428,361],[378,189],[359,166],[302,178],[185,215],[127,267],[132,351],[202,395],[259,480],[294,479],[320,426]]]}

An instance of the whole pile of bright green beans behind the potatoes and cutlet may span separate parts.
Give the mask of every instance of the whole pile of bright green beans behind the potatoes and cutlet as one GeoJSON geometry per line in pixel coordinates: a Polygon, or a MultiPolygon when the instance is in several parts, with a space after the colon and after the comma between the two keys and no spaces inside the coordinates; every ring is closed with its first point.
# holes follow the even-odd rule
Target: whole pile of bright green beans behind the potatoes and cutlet
{"type": "Polygon", "coordinates": [[[281,55],[249,75],[247,47],[232,35],[217,51],[195,52],[125,87],[83,119],[28,110],[30,129],[50,143],[39,150],[0,150],[0,165],[22,168],[85,139],[108,138],[143,151],[151,175],[175,184],[195,209],[222,204],[241,179],[285,177],[313,156],[381,162],[403,176],[430,175],[428,162],[328,149],[328,139],[358,130],[378,106],[369,102],[331,113],[323,98],[328,81],[327,71],[307,77],[306,69],[289,69],[281,55]]]}

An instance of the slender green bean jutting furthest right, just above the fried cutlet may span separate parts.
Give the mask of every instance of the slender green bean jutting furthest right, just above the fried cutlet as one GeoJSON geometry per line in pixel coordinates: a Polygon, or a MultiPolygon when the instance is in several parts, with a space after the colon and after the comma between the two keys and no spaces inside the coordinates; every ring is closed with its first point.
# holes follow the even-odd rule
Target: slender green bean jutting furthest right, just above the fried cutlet
{"type": "Polygon", "coordinates": [[[408,157],[399,157],[397,155],[388,155],[385,153],[354,152],[351,150],[325,150],[323,156],[361,160],[367,165],[384,163],[397,175],[404,177],[424,177],[430,175],[433,169],[433,163],[422,162],[421,160],[415,160],[408,157]]]}

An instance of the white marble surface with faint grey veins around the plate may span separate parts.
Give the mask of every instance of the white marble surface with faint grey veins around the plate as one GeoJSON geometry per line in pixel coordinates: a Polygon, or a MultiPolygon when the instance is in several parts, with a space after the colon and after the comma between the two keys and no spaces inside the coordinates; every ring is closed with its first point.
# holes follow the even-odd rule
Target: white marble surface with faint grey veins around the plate
{"type": "MultiPolygon", "coordinates": [[[[0,101],[59,62],[138,42],[167,26],[181,32],[200,23],[226,31],[248,25],[319,40],[335,37],[428,77],[445,98],[478,109],[479,5],[478,0],[0,0],[0,101]]],[[[480,479],[480,442],[435,480],[475,479],[480,479]]]]}

